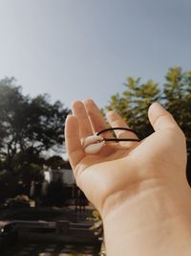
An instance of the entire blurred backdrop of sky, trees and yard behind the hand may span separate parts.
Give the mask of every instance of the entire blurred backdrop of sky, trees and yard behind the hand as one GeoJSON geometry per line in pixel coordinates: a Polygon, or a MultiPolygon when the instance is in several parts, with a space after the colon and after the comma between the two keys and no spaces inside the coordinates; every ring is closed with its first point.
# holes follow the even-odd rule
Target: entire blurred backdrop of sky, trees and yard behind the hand
{"type": "Polygon", "coordinates": [[[149,105],[164,105],[186,135],[191,184],[190,11],[189,0],[0,0],[1,255],[99,253],[101,221],[64,147],[74,100],[117,110],[140,138],[153,132],[149,105]]]}

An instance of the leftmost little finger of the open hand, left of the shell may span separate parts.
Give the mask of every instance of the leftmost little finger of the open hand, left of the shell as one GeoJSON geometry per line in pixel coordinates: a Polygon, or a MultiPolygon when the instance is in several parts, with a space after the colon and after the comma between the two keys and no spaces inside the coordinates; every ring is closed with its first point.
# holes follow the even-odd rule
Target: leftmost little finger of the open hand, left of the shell
{"type": "Polygon", "coordinates": [[[73,170],[80,160],[84,157],[84,151],[81,147],[78,122],[75,116],[69,115],[65,125],[65,143],[69,160],[73,170]]]}

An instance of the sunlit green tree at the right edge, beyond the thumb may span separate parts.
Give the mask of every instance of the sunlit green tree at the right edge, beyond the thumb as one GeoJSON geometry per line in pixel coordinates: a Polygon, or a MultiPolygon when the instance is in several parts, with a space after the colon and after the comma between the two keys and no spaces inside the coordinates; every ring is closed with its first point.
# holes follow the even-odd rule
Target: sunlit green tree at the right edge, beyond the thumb
{"type": "Polygon", "coordinates": [[[191,71],[182,72],[180,67],[170,68],[163,86],[162,101],[169,110],[187,139],[191,152],[191,71]]]}

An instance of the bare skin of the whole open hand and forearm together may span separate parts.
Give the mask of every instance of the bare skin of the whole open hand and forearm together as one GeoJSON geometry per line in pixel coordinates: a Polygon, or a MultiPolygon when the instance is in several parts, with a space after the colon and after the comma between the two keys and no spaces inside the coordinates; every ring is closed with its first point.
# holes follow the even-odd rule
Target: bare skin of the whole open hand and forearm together
{"type": "MultiPolygon", "coordinates": [[[[172,115],[155,103],[148,109],[153,134],[122,146],[108,143],[92,155],[80,139],[107,125],[92,100],[75,101],[72,109],[66,149],[77,186],[101,215],[107,256],[191,255],[185,137],[172,115]]],[[[111,127],[128,128],[116,112],[108,112],[107,120],[111,127]]],[[[137,138],[130,131],[116,134],[137,138]]]]}

